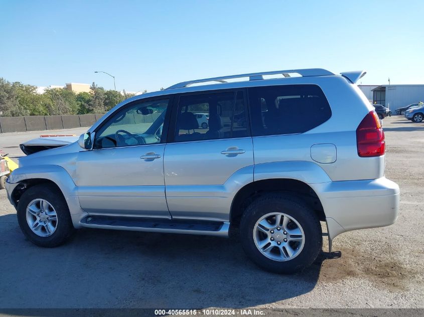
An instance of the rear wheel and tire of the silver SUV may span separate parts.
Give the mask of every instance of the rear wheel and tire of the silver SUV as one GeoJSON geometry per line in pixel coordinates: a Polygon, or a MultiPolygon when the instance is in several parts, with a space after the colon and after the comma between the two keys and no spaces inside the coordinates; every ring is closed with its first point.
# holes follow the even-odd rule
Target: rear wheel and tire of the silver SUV
{"type": "MultiPolygon", "coordinates": [[[[267,219],[272,220],[272,216],[267,219]]],[[[261,221],[261,223],[263,223],[263,221],[261,221]]],[[[267,225],[275,226],[275,224],[270,224],[268,221],[267,225]]],[[[315,261],[322,249],[321,224],[316,213],[300,198],[286,193],[269,193],[254,200],[246,208],[241,217],[240,237],[241,245],[247,256],[262,269],[274,273],[290,274],[300,272],[315,261]],[[262,217],[266,217],[272,213],[282,213],[284,215],[282,215],[281,226],[275,227],[272,234],[272,237],[274,237],[272,243],[275,244],[275,242],[280,242],[280,244],[271,247],[270,245],[272,244],[270,240],[267,241],[269,244],[263,244],[265,243],[263,241],[269,238],[272,231],[269,230],[266,234],[260,232],[262,230],[257,230],[259,228],[257,223],[262,217]],[[294,220],[289,222],[289,226],[293,225],[290,229],[287,225],[284,226],[283,221],[285,217],[294,220]],[[295,222],[299,224],[300,227],[297,226],[295,222]],[[294,227],[297,228],[294,229],[294,227]],[[291,237],[299,237],[300,235],[291,235],[289,232],[291,230],[293,230],[291,232],[295,232],[294,230],[299,231],[299,228],[301,233],[303,233],[302,242],[288,241],[287,239],[281,240],[284,237],[289,239],[291,237]],[[281,232],[283,233],[282,236],[279,234],[281,232]],[[284,235],[285,232],[289,233],[284,235]],[[265,238],[258,243],[260,235],[265,238]],[[289,243],[291,244],[289,245],[289,243]],[[259,251],[259,246],[256,246],[257,244],[264,245],[264,249],[270,248],[271,250],[269,252],[259,251]],[[293,256],[290,256],[287,245],[294,251],[293,256]],[[289,256],[287,256],[288,254],[289,256]]],[[[272,239],[272,237],[269,239],[272,239]]]]}

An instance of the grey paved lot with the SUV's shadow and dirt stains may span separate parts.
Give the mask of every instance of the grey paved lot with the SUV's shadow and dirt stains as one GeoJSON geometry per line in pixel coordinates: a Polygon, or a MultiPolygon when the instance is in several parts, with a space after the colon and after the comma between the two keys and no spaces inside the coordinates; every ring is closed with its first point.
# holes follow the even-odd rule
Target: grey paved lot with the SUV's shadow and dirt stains
{"type": "MultiPolygon", "coordinates": [[[[395,116],[383,126],[386,177],[401,189],[397,222],[338,236],[333,246],[340,252],[323,252],[297,275],[261,271],[246,258],[236,235],[79,230],[62,247],[39,248],[24,239],[15,209],[0,191],[0,312],[6,307],[424,307],[424,123],[395,116]]],[[[0,148],[17,158],[19,142],[36,135],[0,135],[0,148]]]]}

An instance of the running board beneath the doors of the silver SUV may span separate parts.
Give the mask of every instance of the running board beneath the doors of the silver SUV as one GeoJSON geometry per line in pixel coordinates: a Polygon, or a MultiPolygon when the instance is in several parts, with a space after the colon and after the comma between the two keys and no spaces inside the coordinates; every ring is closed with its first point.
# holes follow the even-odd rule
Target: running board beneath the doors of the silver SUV
{"type": "Polygon", "coordinates": [[[171,218],[87,215],[80,221],[87,228],[202,234],[228,237],[230,223],[171,218]]]}

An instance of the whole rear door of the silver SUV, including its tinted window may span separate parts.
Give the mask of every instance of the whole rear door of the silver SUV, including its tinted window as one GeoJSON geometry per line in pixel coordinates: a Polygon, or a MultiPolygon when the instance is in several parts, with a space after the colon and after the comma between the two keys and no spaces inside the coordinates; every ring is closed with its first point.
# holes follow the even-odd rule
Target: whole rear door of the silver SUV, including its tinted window
{"type": "Polygon", "coordinates": [[[227,180],[243,168],[250,168],[248,177],[253,180],[246,113],[244,90],[179,96],[164,159],[167,202],[173,217],[228,221],[227,180]],[[209,115],[206,128],[199,128],[196,113],[209,115]]]}

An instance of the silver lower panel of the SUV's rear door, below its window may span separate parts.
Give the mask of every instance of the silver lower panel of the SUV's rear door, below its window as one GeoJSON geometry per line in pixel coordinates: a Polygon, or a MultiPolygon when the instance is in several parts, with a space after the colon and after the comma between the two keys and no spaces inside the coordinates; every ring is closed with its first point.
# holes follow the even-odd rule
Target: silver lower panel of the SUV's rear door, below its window
{"type": "Polygon", "coordinates": [[[240,185],[246,184],[246,177],[253,181],[252,139],[167,144],[164,165],[168,207],[173,217],[228,220],[231,201],[223,198],[232,197],[227,188],[234,190],[234,184],[228,182],[240,182],[237,173],[243,175],[240,185]],[[245,152],[221,154],[229,148],[245,152]],[[211,200],[213,197],[216,199],[211,200]]]}

